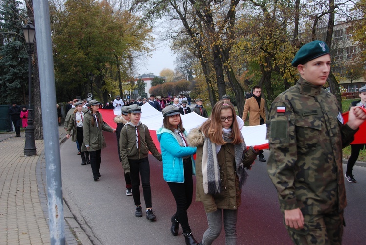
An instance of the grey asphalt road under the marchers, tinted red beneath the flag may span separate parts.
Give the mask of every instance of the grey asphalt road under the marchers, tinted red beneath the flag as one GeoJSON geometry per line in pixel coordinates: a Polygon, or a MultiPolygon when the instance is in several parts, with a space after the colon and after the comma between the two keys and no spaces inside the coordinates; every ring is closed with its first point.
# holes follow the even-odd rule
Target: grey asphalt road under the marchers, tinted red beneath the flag
{"type": "MultiPolygon", "coordinates": [[[[184,244],[181,235],[174,237],[169,228],[175,202],[163,180],[162,163],[149,156],[153,210],[157,221],[134,216],[132,196],[125,195],[122,165],[118,160],[115,134],[104,133],[108,147],[102,150],[102,177],[93,181],[91,167],[81,166],[76,144],[61,144],[63,194],[72,213],[94,244],[173,245],[184,244]]],[[[265,152],[267,157],[268,152],[265,152]]],[[[344,244],[365,244],[366,168],[354,169],[357,184],[346,183],[348,207],[344,244]]],[[[141,188],[142,197],[142,188],[141,188]]],[[[144,207],[142,198],[142,207],[144,207]]],[[[203,206],[193,202],[188,210],[191,228],[197,240],[207,228],[203,206]]],[[[249,171],[239,208],[238,244],[290,245],[275,189],[266,174],[265,163],[256,162],[249,171]]],[[[214,244],[224,244],[224,231],[214,244]]]]}

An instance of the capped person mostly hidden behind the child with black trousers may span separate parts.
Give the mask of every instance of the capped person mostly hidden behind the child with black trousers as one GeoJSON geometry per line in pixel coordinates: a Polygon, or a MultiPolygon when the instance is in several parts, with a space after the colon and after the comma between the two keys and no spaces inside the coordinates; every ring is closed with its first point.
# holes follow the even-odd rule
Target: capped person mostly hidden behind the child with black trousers
{"type": "MultiPolygon", "coordinates": [[[[120,159],[120,162],[122,162],[121,155],[120,155],[121,130],[124,127],[124,125],[130,121],[130,116],[129,116],[127,110],[128,110],[128,107],[123,106],[121,109],[121,115],[118,115],[114,118],[114,122],[117,123],[117,128],[116,128],[117,150],[118,150],[118,158],[120,159]]],[[[124,180],[126,182],[126,195],[132,196],[132,184],[131,184],[131,177],[130,177],[129,172],[124,171],[124,180]]]]}

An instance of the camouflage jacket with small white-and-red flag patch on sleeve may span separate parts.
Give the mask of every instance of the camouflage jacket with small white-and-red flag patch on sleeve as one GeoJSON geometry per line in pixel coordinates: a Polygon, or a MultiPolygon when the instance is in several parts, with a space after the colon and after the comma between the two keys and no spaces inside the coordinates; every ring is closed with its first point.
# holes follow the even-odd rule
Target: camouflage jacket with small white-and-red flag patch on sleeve
{"type": "Polygon", "coordinates": [[[342,148],[357,130],[340,120],[335,96],[302,78],[273,101],[267,170],[282,211],[322,214],[346,207],[342,148]]]}

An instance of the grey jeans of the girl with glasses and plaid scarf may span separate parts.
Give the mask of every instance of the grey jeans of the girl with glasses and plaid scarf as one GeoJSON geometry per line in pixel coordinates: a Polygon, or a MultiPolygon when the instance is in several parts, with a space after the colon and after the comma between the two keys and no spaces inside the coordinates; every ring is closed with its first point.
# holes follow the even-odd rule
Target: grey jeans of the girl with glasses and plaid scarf
{"type": "Polygon", "coordinates": [[[236,245],[236,222],[238,218],[238,210],[217,209],[215,212],[206,213],[206,215],[208,229],[203,234],[202,244],[211,245],[212,242],[219,237],[224,218],[225,244],[236,245]]]}

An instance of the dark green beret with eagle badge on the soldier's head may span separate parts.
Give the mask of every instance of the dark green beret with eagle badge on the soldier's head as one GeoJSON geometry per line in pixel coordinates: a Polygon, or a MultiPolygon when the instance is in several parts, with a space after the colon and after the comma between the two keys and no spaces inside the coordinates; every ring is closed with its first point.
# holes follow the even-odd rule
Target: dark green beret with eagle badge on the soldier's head
{"type": "Polygon", "coordinates": [[[305,64],[308,61],[326,54],[329,54],[328,45],[326,45],[324,41],[315,40],[302,46],[299,51],[297,51],[291,64],[292,66],[297,67],[299,64],[305,64]]]}

